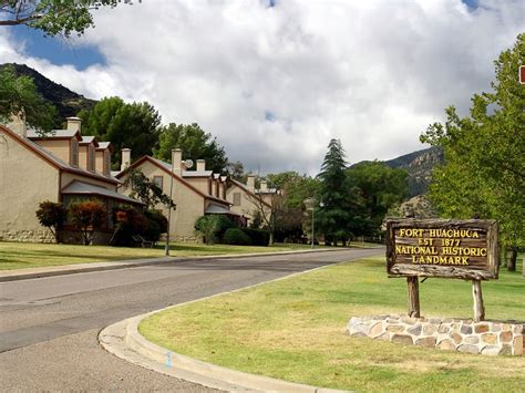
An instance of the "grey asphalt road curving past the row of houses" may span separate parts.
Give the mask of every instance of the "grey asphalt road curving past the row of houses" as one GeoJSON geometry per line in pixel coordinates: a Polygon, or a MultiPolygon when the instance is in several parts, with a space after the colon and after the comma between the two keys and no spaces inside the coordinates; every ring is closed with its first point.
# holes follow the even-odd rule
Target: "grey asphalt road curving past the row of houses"
{"type": "Polygon", "coordinates": [[[97,333],[152,310],[382,252],[187,260],[0,283],[0,390],[212,391],[113,356],[97,333]]]}

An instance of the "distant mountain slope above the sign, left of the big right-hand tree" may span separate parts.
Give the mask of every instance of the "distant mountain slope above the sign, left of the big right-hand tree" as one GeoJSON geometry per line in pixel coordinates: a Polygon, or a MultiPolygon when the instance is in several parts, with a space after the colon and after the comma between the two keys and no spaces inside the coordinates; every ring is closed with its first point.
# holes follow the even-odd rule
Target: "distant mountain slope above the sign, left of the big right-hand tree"
{"type": "Polygon", "coordinates": [[[409,198],[411,198],[426,193],[432,169],[436,165],[443,164],[443,149],[429,147],[385,161],[384,164],[391,168],[406,169],[409,173],[409,198]]]}

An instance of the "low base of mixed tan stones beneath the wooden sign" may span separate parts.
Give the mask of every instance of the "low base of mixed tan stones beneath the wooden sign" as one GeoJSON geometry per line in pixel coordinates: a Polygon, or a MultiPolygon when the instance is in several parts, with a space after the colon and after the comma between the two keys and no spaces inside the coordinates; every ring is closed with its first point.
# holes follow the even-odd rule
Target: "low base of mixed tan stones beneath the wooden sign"
{"type": "Polygon", "coordinates": [[[523,355],[525,352],[523,322],[373,316],[352,317],[347,331],[352,337],[469,353],[523,355]]]}

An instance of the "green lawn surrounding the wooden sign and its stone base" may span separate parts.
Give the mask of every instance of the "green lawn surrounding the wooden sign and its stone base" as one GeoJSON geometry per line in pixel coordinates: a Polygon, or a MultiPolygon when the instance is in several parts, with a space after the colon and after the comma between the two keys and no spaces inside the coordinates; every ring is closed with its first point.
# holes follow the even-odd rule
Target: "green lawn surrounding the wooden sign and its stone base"
{"type": "MultiPolygon", "coordinates": [[[[519,391],[525,356],[473,355],[350,338],[352,316],[403,313],[406,281],[384,257],[319,269],[175,307],[140,331],[175,352],[256,374],[358,391],[519,391]]],[[[525,279],[501,272],[483,283],[486,316],[525,320],[525,279]]],[[[420,285],[426,317],[472,317],[471,283],[420,285]]]]}

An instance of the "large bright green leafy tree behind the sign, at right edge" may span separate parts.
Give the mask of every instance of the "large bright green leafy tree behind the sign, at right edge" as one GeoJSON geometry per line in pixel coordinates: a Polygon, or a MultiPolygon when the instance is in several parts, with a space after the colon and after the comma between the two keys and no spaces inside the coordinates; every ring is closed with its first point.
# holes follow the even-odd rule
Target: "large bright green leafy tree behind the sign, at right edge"
{"type": "Polygon", "coordinates": [[[430,187],[439,213],[496,219],[513,270],[525,246],[525,89],[517,79],[525,34],[494,63],[493,92],[474,94],[466,117],[447,107],[445,124],[431,124],[421,141],[444,149],[445,164],[433,172],[430,187]]]}

